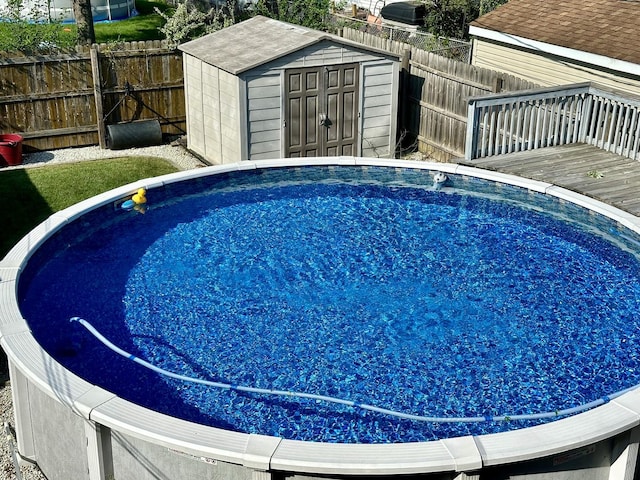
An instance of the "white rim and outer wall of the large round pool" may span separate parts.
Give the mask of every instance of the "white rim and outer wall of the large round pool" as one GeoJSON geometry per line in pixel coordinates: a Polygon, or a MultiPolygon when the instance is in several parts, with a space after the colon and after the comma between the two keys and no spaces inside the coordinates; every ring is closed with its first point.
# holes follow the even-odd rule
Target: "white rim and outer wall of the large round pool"
{"type": "Polygon", "coordinates": [[[18,277],[38,246],[66,223],[139,188],[238,170],[306,165],[416,168],[484,178],[578,203],[640,232],[638,218],[593,199],[552,184],[456,164],[356,157],[241,162],[111,190],[52,215],[0,262],[0,344],[9,359],[17,444],[24,458],[37,462],[50,480],[186,480],[206,475],[267,480],[274,472],[301,479],[439,472],[453,479],[496,468],[519,472],[527,465],[551,469],[558,479],[623,478],[617,475],[631,472],[640,439],[640,391],[573,417],[505,433],[407,444],[300,442],[206,427],[142,408],[67,371],[31,335],[18,307],[18,277]]]}

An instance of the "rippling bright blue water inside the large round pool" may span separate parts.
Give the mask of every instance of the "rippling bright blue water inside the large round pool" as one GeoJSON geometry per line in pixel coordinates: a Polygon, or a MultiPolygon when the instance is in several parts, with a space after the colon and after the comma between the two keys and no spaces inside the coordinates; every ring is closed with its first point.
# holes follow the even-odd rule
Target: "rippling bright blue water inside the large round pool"
{"type": "Polygon", "coordinates": [[[309,167],[152,190],[144,215],[109,205],[49,240],[21,276],[21,309],[58,361],[123,398],[299,440],[535,422],[218,390],[149,371],[69,318],[182,375],[418,415],[555,411],[640,383],[635,234],[516,187],[452,176],[435,190],[431,175],[309,167]]]}

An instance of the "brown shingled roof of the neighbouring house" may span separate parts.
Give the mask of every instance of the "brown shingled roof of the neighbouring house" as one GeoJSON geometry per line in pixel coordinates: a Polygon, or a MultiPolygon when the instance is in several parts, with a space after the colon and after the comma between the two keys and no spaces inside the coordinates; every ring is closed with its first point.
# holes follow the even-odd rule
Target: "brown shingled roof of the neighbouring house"
{"type": "Polygon", "coordinates": [[[640,64],[639,0],[509,0],[471,25],[640,64]]]}

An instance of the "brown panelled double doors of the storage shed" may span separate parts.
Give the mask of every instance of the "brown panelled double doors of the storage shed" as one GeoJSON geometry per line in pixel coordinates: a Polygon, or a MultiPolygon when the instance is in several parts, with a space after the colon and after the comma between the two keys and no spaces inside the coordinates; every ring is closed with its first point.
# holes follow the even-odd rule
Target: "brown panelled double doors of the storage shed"
{"type": "Polygon", "coordinates": [[[357,154],[357,63],[285,71],[285,156],[357,154]]]}

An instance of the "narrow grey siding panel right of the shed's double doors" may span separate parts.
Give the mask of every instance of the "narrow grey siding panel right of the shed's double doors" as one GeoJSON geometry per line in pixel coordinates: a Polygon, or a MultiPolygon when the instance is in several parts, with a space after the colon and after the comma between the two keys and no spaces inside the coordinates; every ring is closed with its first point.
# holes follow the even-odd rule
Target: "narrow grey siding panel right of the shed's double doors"
{"type": "Polygon", "coordinates": [[[364,157],[392,157],[395,151],[397,74],[392,62],[362,66],[360,142],[364,157]]]}

